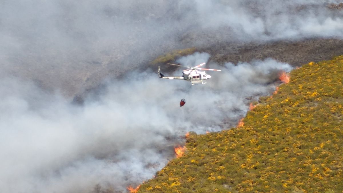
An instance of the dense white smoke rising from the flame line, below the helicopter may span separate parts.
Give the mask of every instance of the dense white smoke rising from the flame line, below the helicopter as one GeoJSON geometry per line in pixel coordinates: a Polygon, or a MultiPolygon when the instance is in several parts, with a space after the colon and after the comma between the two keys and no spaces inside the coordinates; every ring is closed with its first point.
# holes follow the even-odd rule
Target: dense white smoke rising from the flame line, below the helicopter
{"type": "MultiPolygon", "coordinates": [[[[195,66],[208,58],[196,53],[179,62],[195,66]]],[[[180,136],[234,126],[249,100],[275,89],[277,72],[291,70],[272,59],[217,68],[223,71],[212,72],[207,84],[191,87],[132,72],[84,106],[2,79],[0,192],[90,192],[96,184],[125,191],[173,158],[180,136]]]]}

